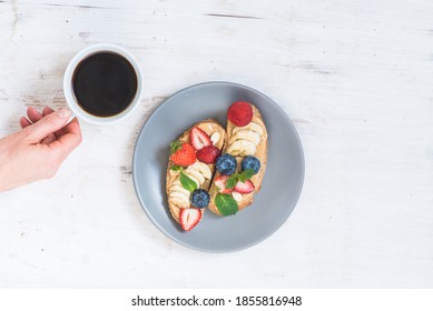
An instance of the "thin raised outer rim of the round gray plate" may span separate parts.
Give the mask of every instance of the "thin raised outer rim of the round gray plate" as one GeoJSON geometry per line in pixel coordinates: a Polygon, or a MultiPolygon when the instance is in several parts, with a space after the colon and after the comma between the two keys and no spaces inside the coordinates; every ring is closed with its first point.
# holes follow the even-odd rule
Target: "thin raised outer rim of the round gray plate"
{"type": "Polygon", "coordinates": [[[270,232],[270,234],[267,234],[265,237],[262,237],[262,239],[258,239],[254,242],[250,242],[250,243],[246,243],[245,245],[243,247],[238,247],[238,248],[232,248],[232,249],[224,249],[224,250],[211,250],[211,249],[204,249],[204,248],[199,248],[199,247],[195,247],[195,245],[191,245],[189,243],[186,243],[185,241],[180,240],[180,239],[177,239],[176,237],[169,234],[155,219],[154,217],[150,214],[150,212],[147,210],[147,207],[141,198],[141,194],[140,192],[138,191],[138,184],[137,184],[137,178],[136,178],[136,163],[137,163],[137,147],[138,147],[138,140],[140,139],[142,132],[145,131],[147,124],[148,124],[148,121],[152,118],[152,116],[155,113],[158,112],[159,109],[161,109],[161,107],[168,101],[170,100],[173,97],[176,97],[178,93],[183,93],[189,89],[194,89],[194,88],[199,88],[199,87],[204,87],[204,86],[232,86],[232,87],[238,87],[238,88],[243,88],[243,89],[246,89],[248,91],[252,91],[254,93],[258,93],[259,96],[266,98],[277,110],[279,110],[279,112],[282,112],[282,114],[284,116],[284,118],[286,119],[287,123],[293,128],[294,130],[294,133],[295,133],[295,137],[296,137],[296,141],[299,146],[299,156],[301,156],[301,163],[302,163],[302,170],[301,170],[301,183],[299,183],[299,189],[298,191],[296,192],[296,199],[294,201],[294,207],[293,207],[293,210],[296,208],[299,199],[301,199],[301,194],[302,194],[302,191],[303,191],[303,188],[304,188],[304,182],[305,182],[305,154],[304,154],[304,148],[303,148],[303,144],[302,144],[302,140],[301,140],[301,137],[299,137],[299,133],[297,132],[296,130],[296,127],[295,124],[293,123],[292,119],[288,117],[288,114],[284,111],[284,109],[278,104],[276,103],[272,98],[269,98],[268,96],[266,96],[265,93],[256,90],[256,89],[253,89],[248,86],[245,86],[245,84],[242,84],[242,83],[237,83],[237,82],[230,82],[230,81],[219,81],[219,80],[216,80],[216,81],[206,81],[206,82],[199,82],[199,83],[196,83],[196,84],[191,84],[191,86],[188,86],[186,88],[183,88],[176,92],[174,92],[173,94],[170,94],[169,97],[167,97],[161,103],[159,103],[155,109],[154,111],[151,111],[151,113],[149,114],[149,117],[146,119],[145,123],[142,124],[138,136],[137,136],[137,140],[136,140],[136,143],[135,143],[135,147],[134,147],[134,153],[132,153],[132,165],[131,165],[131,169],[132,169],[132,183],[134,183],[134,189],[135,189],[135,192],[136,192],[136,195],[137,195],[137,199],[140,203],[140,207],[141,209],[145,211],[146,215],[150,219],[151,223],[161,232],[164,233],[164,235],[166,235],[167,238],[169,238],[170,240],[175,241],[176,243],[187,248],[187,249],[191,249],[191,250],[195,250],[195,251],[200,251],[200,252],[206,252],[206,253],[230,253],[230,252],[237,252],[237,251],[242,251],[242,250],[246,250],[246,249],[249,249],[249,248],[253,248],[259,243],[262,243],[263,241],[265,241],[266,239],[270,238],[272,235],[274,235],[283,225],[284,223],[286,223],[286,221],[288,220],[288,218],[291,217],[293,210],[291,211],[291,213],[287,215],[287,218],[284,220],[284,222],[281,224],[281,225],[277,225],[276,228],[274,228],[270,232]]]}

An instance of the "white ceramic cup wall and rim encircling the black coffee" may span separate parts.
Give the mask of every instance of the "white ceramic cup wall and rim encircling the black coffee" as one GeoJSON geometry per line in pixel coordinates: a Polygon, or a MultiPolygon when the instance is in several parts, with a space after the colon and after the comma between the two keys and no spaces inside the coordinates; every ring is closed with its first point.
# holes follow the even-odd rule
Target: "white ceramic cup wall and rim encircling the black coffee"
{"type": "Polygon", "coordinates": [[[69,62],[63,76],[63,92],[69,108],[72,110],[73,114],[76,114],[76,117],[78,117],[79,119],[86,120],[95,124],[114,123],[129,116],[137,108],[138,103],[141,101],[141,96],[142,96],[141,69],[137,60],[125,49],[108,43],[94,44],[78,52],[69,62]],[[100,52],[111,52],[124,57],[132,66],[135,73],[137,76],[137,90],[132,101],[124,111],[110,117],[98,117],[98,116],[90,114],[79,106],[76,96],[73,94],[72,79],[77,67],[86,58],[100,52]]]}

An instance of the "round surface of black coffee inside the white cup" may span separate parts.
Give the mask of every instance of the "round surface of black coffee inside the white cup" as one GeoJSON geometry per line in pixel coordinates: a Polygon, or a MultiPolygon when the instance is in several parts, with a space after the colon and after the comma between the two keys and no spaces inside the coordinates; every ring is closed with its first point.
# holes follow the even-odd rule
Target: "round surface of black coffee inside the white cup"
{"type": "Polygon", "coordinates": [[[115,52],[96,52],[81,60],[72,76],[72,92],[79,107],[96,117],[125,111],[137,93],[132,64],[115,52]]]}

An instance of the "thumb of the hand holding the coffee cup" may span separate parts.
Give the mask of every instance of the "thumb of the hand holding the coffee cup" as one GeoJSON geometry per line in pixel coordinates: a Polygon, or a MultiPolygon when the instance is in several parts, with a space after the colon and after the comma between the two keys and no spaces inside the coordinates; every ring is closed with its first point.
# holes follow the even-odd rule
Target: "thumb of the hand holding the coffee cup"
{"type": "Polygon", "coordinates": [[[36,141],[41,141],[50,133],[53,133],[66,126],[71,111],[66,108],[61,108],[53,113],[45,116],[38,122],[33,123],[30,127],[27,127],[26,130],[30,132],[30,138],[36,141]]]}

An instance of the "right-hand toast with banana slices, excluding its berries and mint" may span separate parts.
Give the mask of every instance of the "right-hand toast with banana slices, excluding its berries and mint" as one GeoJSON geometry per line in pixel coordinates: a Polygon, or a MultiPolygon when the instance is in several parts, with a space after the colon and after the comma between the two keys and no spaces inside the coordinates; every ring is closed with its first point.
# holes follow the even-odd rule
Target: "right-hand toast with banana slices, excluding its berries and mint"
{"type": "MultiPolygon", "coordinates": [[[[227,142],[222,153],[229,153],[236,158],[237,172],[240,171],[242,160],[246,156],[254,156],[260,161],[259,171],[250,179],[255,189],[250,193],[238,193],[232,191],[230,195],[237,201],[238,210],[242,210],[253,203],[255,193],[260,190],[262,181],[266,171],[267,163],[267,130],[265,122],[262,119],[258,109],[250,104],[253,108],[253,120],[245,127],[236,127],[229,120],[227,120],[227,142]],[[250,132],[253,133],[250,133],[250,132]],[[245,140],[247,140],[245,142],[245,140]]],[[[217,179],[219,172],[216,171],[215,179],[217,179]]],[[[218,195],[219,189],[215,182],[209,188],[210,203],[208,208],[214,213],[222,215],[216,203],[215,198],[218,195]]]]}

